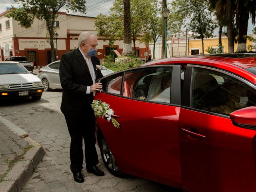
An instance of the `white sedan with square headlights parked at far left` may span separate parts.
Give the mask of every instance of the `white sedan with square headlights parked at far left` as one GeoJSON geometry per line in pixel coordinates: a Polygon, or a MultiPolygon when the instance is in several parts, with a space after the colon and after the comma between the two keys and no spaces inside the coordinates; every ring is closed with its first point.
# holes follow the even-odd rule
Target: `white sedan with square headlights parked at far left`
{"type": "Polygon", "coordinates": [[[0,99],[32,97],[39,100],[44,87],[41,80],[19,62],[0,62],[0,99]]]}

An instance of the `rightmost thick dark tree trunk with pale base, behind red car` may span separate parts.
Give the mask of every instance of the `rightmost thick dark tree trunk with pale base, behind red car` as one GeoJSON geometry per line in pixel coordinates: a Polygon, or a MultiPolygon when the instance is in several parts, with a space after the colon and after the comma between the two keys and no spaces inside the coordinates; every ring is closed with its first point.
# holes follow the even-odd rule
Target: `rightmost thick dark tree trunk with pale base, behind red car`
{"type": "MultiPolygon", "coordinates": [[[[246,12],[246,10],[244,10],[246,12]]],[[[238,31],[238,45],[236,52],[247,52],[246,50],[246,38],[247,35],[249,13],[244,13],[239,16],[239,31],[238,31]]]]}

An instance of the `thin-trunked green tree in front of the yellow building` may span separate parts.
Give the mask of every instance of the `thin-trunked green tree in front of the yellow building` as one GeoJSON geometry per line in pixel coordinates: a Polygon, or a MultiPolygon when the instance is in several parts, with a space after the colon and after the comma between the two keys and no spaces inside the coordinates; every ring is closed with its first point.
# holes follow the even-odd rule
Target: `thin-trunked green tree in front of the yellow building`
{"type": "Polygon", "coordinates": [[[212,37],[216,22],[212,19],[213,14],[208,10],[208,4],[204,0],[188,0],[190,22],[188,28],[192,31],[193,38],[201,39],[202,53],[204,54],[204,38],[212,37]]]}

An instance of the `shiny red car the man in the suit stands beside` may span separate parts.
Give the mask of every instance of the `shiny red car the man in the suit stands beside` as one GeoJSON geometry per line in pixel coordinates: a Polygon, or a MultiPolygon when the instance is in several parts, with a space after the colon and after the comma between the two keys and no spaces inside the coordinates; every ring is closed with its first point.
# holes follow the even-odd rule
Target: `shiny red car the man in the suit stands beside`
{"type": "Polygon", "coordinates": [[[184,191],[256,191],[256,54],[156,60],[100,79],[106,168],[184,191]]]}

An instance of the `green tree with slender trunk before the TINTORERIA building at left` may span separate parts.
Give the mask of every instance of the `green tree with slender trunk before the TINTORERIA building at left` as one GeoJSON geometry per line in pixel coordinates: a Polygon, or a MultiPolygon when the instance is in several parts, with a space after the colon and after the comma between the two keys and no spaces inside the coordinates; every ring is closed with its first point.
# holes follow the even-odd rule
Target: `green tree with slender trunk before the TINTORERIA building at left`
{"type": "Polygon", "coordinates": [[[14,0],[19,3],[20,8],[12,7],[12,10],[5,16],[19,21],[20,25],[26,24],[29,28],[34,21],[34,18],[44,20],[46,22],[46,29],[50,39],[50,46],[52,50],[52,62],[54,58],[54,33],[55,20],[58,18],[58,11],[60,8],[66,8],[74,12],[86,13],[86,0],[14,0]]]}

